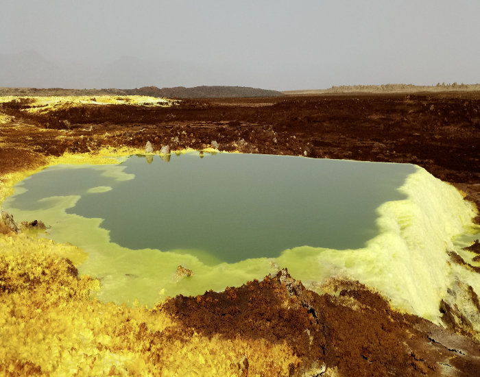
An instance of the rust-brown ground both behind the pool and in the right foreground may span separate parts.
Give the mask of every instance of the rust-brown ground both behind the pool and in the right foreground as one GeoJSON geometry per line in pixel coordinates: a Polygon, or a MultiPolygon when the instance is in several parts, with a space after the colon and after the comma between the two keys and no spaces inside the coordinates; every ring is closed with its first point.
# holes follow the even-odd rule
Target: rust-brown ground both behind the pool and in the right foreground
{"type": "MultiPolygon", "coordinates": [[[[480,203],[480,93],[195,99],[171,108],[85,106],[42,117],[25,114],[28,106],[0,108],[10,117],[0,125],[0,177],[67,151],[144,148],[147,141],[154,151],[202,150],[215,141],[222,151],[409,162],[480,203]],[[70,130],[60,130],[65,120],[70,130]]],[[[461,263],[455,256],[453,262],[461,263]]],[[[358,283],[338,282],[320,296],[280,271],[223,293],[178,296],[163,310],[204,337],[287,341],[302,359],[291,374],[317,363],[339,376],[480,376],[480,345],[464,329],[397,313],[358,283]]],[[[455,308],[442,310],[446,319],[455,316],[455,308]]],[[[248,361],[241,370],[248,375],[248,361]]]]}

